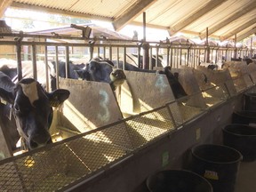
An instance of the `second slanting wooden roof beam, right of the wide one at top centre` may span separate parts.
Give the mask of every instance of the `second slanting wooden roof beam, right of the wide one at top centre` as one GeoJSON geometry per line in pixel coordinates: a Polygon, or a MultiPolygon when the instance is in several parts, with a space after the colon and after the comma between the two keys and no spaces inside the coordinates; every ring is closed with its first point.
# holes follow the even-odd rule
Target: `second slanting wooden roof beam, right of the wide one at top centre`
{"type": "Polygon", "coordinates": [[[169,35],[173,36],[174,34],[178,33],[181,29],[186,28],[189,24],[198,20],[204,14],[212,11],[212,9],[216,8],[220,4],[223,4],[225,1],[227,0],[212,0],[208,4],[205,4],[203,7],[201,7],[199,10],[197,10],[193,14],[188,15],[188,17],[184,18],[183,20],[180,20],[180,22],[170,27],[170,29],[168,30],[169,35]]]}

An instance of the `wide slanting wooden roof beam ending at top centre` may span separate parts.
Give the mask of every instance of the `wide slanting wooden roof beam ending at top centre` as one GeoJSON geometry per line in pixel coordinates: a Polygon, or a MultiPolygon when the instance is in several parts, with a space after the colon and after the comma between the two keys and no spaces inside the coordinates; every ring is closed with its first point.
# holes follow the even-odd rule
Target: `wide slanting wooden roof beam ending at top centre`
{"type": "Polygon", "coordinates": [[[132,4],[126,12],[112,22],[113,27],[117,31],[124,28],[125,24],[139,16],[141,12],[144,12],[151,4],[156,3],[156,1],[157,0],[138,0],[136,3],[132,4]]]}

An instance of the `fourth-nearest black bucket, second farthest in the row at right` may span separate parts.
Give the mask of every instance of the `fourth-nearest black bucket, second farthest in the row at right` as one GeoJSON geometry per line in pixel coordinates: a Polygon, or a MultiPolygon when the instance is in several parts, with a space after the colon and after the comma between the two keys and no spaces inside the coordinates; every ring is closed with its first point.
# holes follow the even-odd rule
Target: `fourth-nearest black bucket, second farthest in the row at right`
{"type": "Polygon", "coordinates": [[[233,112],[232,124],[256,124],[256,111],[242,110],[233,112]]]}

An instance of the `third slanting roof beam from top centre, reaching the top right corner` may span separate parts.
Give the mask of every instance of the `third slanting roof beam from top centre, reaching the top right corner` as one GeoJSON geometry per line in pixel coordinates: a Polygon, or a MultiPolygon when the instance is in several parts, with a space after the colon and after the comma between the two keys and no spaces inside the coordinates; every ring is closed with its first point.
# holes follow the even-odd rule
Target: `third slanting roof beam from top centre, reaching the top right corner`
{"type": "MultiPolygon", "coordinates": [[[[220,28],[226,27],[230,22],[237,20],[239,17],[243,16],[244,14],[246,14],[247,12],[251,12],[252,10],[254,10],[256,8],[256,4],[255,1],[252,1],[251,4],[248,4],[247,6],[245,6],[244,8],[242,7],[240,9],[240,11],[234,13],[233,15],[231,15],[228,19],[223,20],[222,22],[220,22],[218,25],[209,28],[208,29],[208,35],[212,35],[214,32],[220,30],[220,28]]],[[[206,37],[206,32],[202,33],[200,35],[201,39],[204,39],[206,37]]]]}

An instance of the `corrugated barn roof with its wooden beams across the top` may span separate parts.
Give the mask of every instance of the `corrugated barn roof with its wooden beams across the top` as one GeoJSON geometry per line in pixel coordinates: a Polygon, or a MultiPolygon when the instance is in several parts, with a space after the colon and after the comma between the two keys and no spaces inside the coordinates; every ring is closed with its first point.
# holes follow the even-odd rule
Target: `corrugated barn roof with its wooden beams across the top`
{"type": "Polygon", "coordinates": [[[55,12],[80,18],[108,20],[118,31],[127,24],[165,28],[171,36],[185,32],[237,41],[256,33],[256,0],[2,0],[6,7],[55,12]]]}

